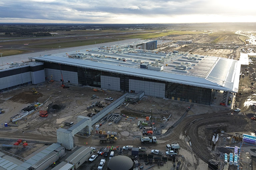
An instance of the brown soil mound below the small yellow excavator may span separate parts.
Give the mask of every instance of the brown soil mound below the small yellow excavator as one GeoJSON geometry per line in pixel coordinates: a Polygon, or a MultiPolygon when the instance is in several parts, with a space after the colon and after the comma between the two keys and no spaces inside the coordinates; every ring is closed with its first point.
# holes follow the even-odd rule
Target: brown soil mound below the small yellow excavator
{"type": "Polygon", "coordinates": [[[27,103],[38,102],[37,99],[40,97],[43,97],[43,94],[41,94],[41,93],[34,94],[33,92],[25,91],[25,92],[21,92],[15,96],[13,96],[9,100],[11,100],[13,102],[27,104],[27,103]]]}

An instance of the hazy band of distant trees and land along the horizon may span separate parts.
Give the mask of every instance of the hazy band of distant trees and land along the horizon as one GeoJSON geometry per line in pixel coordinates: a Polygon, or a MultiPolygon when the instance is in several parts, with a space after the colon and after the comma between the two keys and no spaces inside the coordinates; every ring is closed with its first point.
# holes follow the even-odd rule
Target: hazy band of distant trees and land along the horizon
{"type": "Polygon", "coordinates": [[[256,23],[187,23],[187,24],[32,24],[0,23],[1,36],[52,36],[53,32],[71,30],[247,30],[256,31],[256,23]]]}

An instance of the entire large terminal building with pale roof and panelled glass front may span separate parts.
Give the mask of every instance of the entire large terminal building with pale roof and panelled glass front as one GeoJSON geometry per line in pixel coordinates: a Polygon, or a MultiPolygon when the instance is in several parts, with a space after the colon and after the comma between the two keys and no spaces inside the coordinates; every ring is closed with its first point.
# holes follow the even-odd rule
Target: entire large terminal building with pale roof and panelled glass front
{"type": "MultiPolygon", "coordinates": [[[[83,50],[80,50],[83,51],[83,50]]],[[[240,62],[188,53],[101,47],[75,54],[34,57],[55,81],[210,105],[214,92],[238,92],[240,62]]]]}

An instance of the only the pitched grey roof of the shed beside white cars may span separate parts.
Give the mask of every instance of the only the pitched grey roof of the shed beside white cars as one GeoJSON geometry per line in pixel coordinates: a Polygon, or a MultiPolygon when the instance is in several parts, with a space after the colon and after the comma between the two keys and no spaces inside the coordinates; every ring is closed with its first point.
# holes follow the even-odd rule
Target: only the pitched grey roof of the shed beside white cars
{"type": "Polygon", "coordinates": [[[74,153],[72,153],[65,161],[66,162],[72,162],[76,164],[79,162],[85,155],[87,155],[88,152],[93,152],[92,148],[82,146],[79,149],[77,149],[74,153]]]}

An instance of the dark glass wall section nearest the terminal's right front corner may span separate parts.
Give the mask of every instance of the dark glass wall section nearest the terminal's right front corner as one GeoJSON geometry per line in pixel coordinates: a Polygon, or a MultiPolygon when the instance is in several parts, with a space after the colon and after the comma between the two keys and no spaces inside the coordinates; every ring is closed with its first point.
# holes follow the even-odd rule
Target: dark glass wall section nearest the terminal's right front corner
{"type": "Polygon", "coordinates": [[[165,83],[165,98],[172,100],[210,105],[211,94],[211,89],[171,82],[165,83]]]}

